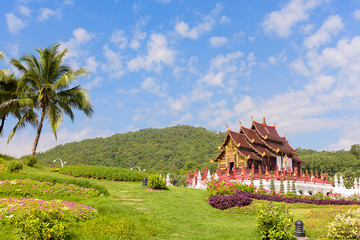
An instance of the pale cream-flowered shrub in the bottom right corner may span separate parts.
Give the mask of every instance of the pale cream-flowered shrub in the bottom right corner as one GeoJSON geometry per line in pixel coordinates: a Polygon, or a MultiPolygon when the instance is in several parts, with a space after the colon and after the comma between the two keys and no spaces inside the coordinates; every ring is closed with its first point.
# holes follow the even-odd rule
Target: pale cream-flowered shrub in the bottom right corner
{"type": "Polygon", "coordinates": [[[338,214],[328,225],[327,239],[360,239],[360,209],[338,214]]]}

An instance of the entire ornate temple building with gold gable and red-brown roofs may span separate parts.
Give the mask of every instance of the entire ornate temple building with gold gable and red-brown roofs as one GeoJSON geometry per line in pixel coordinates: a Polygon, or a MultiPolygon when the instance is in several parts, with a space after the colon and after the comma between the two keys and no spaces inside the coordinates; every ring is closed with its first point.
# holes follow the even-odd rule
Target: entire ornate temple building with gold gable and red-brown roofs
{"type": "Polygon", "coordinates": [[[227,129],[221,151],[211,162],[218,163],[218,169],[275,171],[290,168],[300,173],[301,160],[289,145],[286,136],[280,137],[275,125],[267,125],[265,117],[262,123],[252,120],[250,128],[242,126],[235,132],[227,129]]]}

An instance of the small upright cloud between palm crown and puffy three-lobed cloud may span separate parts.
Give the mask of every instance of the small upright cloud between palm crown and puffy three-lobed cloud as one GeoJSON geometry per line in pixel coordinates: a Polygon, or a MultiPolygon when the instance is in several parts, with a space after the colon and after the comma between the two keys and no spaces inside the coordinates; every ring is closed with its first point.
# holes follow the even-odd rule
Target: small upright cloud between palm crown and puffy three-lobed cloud
{"type": "Polygon", "coordinates": [[[111,78],[121,78],[125,74],[121,54],[113,51],[108,45],[103,47],[103,52],[106,63],[101,66],[101,69],[111,78]]]}

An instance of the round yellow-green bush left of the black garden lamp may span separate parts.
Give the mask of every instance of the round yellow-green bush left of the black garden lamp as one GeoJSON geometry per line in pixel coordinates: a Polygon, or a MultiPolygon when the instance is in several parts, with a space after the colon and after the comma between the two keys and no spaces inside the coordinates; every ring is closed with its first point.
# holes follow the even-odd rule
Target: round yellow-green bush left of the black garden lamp
{"type": "Polygon", "coordinates": [[[290,232],[293,216],[288,213],[285,204],[270,202],[260,207],[256,219],[256,227],[260,232],[261,239],[288,240],[295,239],[290,232]]]}

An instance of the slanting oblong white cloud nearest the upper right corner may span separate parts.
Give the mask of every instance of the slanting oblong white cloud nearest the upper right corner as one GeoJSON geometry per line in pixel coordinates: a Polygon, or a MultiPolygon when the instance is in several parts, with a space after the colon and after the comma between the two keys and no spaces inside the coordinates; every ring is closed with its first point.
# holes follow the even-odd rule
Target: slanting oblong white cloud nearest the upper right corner
{"type": "Polygon", "coordinates": [[[332,36],[344,28],[341,18],[338,15],[330,16],[313,35],[304,40],[307,48],[318,48],[331,40],[332,36]]]}

